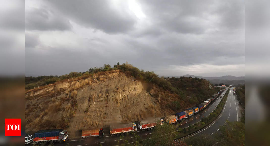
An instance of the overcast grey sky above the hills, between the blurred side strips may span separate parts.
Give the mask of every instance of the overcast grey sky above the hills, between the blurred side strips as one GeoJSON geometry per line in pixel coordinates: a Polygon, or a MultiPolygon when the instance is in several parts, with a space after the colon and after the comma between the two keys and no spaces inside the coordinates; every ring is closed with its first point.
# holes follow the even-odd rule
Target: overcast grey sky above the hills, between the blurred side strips
{"type": "Polygon", "coordinates": [[[26,76],[126,61],[164,76],[244,76],[244,14],[235,0],[27,0],[26,76]]]}

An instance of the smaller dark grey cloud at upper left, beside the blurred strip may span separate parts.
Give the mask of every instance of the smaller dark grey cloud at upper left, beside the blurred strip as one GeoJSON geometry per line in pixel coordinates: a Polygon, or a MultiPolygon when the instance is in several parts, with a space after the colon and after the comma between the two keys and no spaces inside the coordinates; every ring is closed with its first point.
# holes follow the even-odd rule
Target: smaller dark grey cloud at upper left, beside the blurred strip
{"type": "Polygon", "coordinates": [[[32,8],[26,11],[25,28],[27,30],[69,30],[69,21],[44,8],[32,8]]]}

